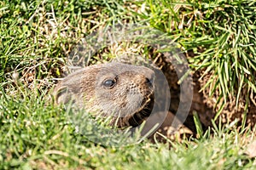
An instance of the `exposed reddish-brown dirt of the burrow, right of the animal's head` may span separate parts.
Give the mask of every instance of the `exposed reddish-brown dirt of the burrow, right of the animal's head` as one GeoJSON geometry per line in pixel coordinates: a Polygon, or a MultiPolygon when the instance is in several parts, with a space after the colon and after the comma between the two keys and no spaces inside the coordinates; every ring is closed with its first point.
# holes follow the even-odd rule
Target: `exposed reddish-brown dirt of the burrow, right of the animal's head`
{"type": "MultiPolygon", "coordinates": [[[[161,70],[165,73],[166,79],[169,82],[170,91],[171,91],[171,105],[170,111],[172,113],[176,113],[178,104],[180,102],[179,94],[180,87],[177,84],[177,74],[174,70],[172,63],[165,58],[165,56],[161,55],[160,59],[158,59],[157,65],[161,68],[161,70]]],[[[189,127],[193,133],[195,133],[195,123],[193,114],[197,113],[201,125],[203,129],[207,129],[207,127],[212,126],[212,119],[217,115],[220,105],[216,105],[216,101],[218,99],[218,93],[214,93],[212,97],[209,96],[209,89],[201,91],[206,83],[208,82],[210,75],[205,76],[200,79],[201,75],[204,71],[195,71],[191,75],[193,77],[193,100],[192,105],[189,111],[189,116],[187,117],[184,125],[189,127]]],[[[216,119],[216,122],[221,121],[223,123],[233,122],[237,120],[237,126],[241,126],[242,122],[245,122],[245,126],[253,127],[256,124],[256,105],[253,104],[253,100],[255,103],[255,95],[251,94],[250,99],[248,99],[248,105],[246,107],[246,100],[244,99],[246,96],[246,92],[242,91],[241,99],[239,100],[239,105],[236,107],[236,98],[232,98],[227,101],[224,106],[223,111],[221,111],[220,116],[216,119]],[[221,118],[220,118],[221,117],[221,118]]]]}

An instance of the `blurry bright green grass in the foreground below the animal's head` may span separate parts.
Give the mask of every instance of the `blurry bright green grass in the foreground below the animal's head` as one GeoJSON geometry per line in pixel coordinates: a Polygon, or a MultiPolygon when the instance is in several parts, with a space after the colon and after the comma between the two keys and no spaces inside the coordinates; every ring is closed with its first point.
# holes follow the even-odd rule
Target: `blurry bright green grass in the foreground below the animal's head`
{"type": "MultiPolygon", "coordinates": [[[[238,133],[234,124],[216,125],[212,136],[208,131],[194,142],[151,144],[144,141],[120,147],[102,146],[87,139],[91,132],[99,131],[92,129],[85,135],[75,133],[63,109],[45,105],[37,94],[16,96],[15,99],[2,95],[0,99],[3,111],[1,169],[253,169],[253,158],[245,155],[247,148],[243,145],[247,143],[244,139],[250,140],[252,134],[250,131],[238,133]]],[[[110,138],[106,140],[113,143],[110,138]]]]}

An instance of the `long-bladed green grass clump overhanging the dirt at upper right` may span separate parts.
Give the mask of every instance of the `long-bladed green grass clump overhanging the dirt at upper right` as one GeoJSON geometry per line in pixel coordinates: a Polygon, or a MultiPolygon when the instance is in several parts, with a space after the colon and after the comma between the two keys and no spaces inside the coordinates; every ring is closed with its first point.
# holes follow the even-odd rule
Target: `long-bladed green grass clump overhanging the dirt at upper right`
{"type": "Polygon", "coordinates": [[[204,88],[211,97],[218,94],[219,108],[232,100],[237,107],[241,99],[256,93],[255,1],[147,2],[152,26],[193,52],[189,63],[204,70],[202,78],[210,75],[204,88]]]}

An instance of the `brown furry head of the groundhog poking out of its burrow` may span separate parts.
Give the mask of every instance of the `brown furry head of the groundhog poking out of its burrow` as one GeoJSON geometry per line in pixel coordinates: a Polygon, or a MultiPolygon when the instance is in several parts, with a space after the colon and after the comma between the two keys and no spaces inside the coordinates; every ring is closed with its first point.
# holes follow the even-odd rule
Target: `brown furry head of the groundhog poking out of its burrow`
{"type": "Polygon", "coordinates": [[[154,105],[154,71],[121,63],[91,65],[65,77],[54,95],[56,104],[73,101],[79,108],[113,116],[112,125],[136,127],[154,105]],[[106,80],[114,86],[104,86],[106,80]]]}

